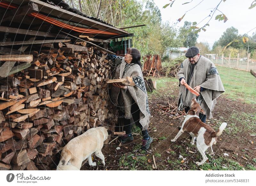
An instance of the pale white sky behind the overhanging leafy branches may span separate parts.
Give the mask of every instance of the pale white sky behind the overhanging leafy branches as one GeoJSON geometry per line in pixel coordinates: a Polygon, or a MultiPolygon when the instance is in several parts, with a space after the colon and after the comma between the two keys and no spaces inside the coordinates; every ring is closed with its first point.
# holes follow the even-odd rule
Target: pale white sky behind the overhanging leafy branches
{"type": "MultiPolygon", "coordinates": [[[[168,6],[163,8],[165,4],[171,3],[170,0],[154,0],[156,6],[161,11],[162,22],[170,21],[171,23],[177,23],[178,27],[184,25],[184,21],[197,22],[199,23],[206,16],[211,13],[211,10],[217,6],[220,0],[193,0],[189,4],[184,4],[190,2],[191,0],[176,0],[172,7],[168,6]],[[186,13],[181,22],[178,22],[177,19],[182,17],[184,13],[194,6],[199,4],[196,8],[186,13]]],[[[248,9],[251,6],[253,0],[226,0],[221,2],[218,7],[218,10],[223,12],[228,20],[226,23],[223,21],[215,20],[216,15],[221,14],[216,11],[213,18],[209,22],[210,27],[206,27],[206,31],[201,31],[197,42],[207,41],[212,47],[213,43],[217,41],[223,32],[229,27],[235,27],[238,29],[239,34],[244,34],[250,31],[252,28],[256,27],[256,7],[253,9],[248,9]]],[[[203,26],[209,18],[205,19],[199,26],[203,26]]],[[[256,32],[256,28],[248,33],[252,35],[253,32],[256,32]]]]}

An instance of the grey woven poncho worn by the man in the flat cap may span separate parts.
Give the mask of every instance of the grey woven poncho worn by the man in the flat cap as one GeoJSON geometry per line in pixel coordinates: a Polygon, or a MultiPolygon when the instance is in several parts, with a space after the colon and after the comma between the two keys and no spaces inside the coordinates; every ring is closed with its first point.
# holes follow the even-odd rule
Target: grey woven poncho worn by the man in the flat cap
{"type": "MultiPolygon", "coordinates": [[[[184,77],[186,82],[188,82],[190,66],[191,63],[189,60],[185,59],[180,65],[180,71],[177,74],[178,79],[184,77]]],[[[195,97],[197,102],[200,103],[201,108],[205,111],[205,114],[209,117],[209,119],[211,119],[213,108],[217,103],[216,98],[225,92],[225,90],[216,66],[212,63],[212,61],[204,56],[200,56],[198,62],[196,63],[194,67],[194,74],[189,84],[189,86],[192,88],[198,85],[206,89],[200,92],[198,97],[189,91],[186,95],[186,88],[183,88],[184,86],[181,85],[178,103],[183,101],[183,107],[190,107],[191,100],[195,97]]]]}

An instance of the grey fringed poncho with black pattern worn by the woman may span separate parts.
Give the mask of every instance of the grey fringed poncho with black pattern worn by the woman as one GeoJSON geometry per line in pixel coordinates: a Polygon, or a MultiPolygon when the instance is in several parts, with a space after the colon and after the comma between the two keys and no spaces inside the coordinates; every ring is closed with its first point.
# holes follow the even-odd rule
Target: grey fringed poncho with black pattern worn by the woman
{"type": "Polygon", "coordinates": [[[131,119],[133,112],[131,112],[133,99],[140,108],[140,124],[142,126],[142,130],[146,130],[148,129],[150,112],[148,106],[148,94],[141,68],[138,64],[127,64],[123,58],[122,62],[116,68],[114,79],[127,76],[132,76],[132,80],[135,83],[135,86],[127,86],[128,91],[127,89],[120,89],[118,87],[112,86],[111,100],[115,105],[122,107],[121,110],[124,110],[124,117],[126,119],[131,119]],[[119,95],[119,93],[121,94],[119,95]]]}

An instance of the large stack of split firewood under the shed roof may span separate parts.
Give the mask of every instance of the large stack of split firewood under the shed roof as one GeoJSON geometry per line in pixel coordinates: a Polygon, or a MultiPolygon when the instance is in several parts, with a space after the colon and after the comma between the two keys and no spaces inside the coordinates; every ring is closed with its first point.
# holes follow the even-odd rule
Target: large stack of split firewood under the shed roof
{"type": "Polygon", "coordinates": [[[101,124],[114,131],[111,64],[98,53],[62,42],[0,56],[0,170],[52,170],[72,138],[101,124]]]}

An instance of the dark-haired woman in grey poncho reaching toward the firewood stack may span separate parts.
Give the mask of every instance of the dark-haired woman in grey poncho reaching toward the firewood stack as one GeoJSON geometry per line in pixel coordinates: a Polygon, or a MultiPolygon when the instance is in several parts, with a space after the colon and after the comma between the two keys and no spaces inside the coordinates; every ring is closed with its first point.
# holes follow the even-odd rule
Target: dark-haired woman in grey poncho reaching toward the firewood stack
{"type": "MultiPolygon", "coordinates": [[[[101,51],[105,54],[106,52],[101,51]]],[[[132,141],[132,123],[140,127],[143,140],[142,150],[147,150],[153,138],[148,135],[148,122],[150,117],[148,107],[148,95],[145,87],[141,63],[140,51],[135,48],[128,48],[124,57],[108,54],[108,59],[115,62],[112,72],[112,79],[131,77],[135,86],[113,84],[111,88],[111,100],[120,108],[119,118],[124,120],[124,131],[126,135],[121,138],[122,142],[132,141]]]]}

